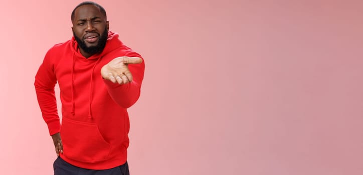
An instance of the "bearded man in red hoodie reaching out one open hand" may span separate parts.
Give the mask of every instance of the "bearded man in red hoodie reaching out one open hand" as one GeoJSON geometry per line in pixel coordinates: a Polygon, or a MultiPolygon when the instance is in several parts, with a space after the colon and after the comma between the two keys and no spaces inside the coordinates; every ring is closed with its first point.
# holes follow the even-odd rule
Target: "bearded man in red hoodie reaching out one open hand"
{"type": "Polygon", "coordinates": [[[73,37],[49,49],[34,83],[58,155],[54,172],[129,174],[127,108],[140,95],[143,59],[109,31],[99,4],[80,3],[71,19],[73,37]],[[57,81],[62,125],[54,92],[57,81]]]}

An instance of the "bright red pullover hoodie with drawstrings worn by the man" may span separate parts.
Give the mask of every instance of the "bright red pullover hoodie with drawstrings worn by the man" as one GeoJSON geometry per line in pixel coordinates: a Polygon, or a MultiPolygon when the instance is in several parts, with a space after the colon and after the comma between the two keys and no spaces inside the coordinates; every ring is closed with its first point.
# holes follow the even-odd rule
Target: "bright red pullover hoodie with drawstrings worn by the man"
{"type": "Polygon", "coordinates": [[[128,107],[140,96],[145,64],[129,64],[133,80],[119,85],[105,80],[101,68],[118,56],[137,56],[115,32],[108,32],[102,53],[84,57],[74,36],[54,45],[35,77],[42,115],[51,135],[60,132],[67,162],[88,169],[107,169],[126,162],[129,144],[128,107]],[[54,93],[59,83],[62,125],[54,93]]]}

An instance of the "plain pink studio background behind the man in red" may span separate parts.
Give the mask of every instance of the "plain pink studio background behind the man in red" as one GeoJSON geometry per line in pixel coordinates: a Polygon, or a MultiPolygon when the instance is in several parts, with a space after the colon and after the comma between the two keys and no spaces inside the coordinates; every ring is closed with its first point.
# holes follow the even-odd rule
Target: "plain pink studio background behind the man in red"
{"type": "MultiPolygon", "coordinates": [[[[79,2],[2,3],[1,174],[53,174],[33,82],[79,2]]],[[[363,1],[98,2],[146,63],[132,174],[363,174],[363,1]]]]}

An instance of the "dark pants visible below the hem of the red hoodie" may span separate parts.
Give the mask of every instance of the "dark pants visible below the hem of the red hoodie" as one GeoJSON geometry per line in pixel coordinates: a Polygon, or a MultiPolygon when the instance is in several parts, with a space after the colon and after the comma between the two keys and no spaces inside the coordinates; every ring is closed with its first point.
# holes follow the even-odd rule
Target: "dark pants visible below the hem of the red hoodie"
{"type": "Polygon", "coordinates": [[[93,170],[85,169],[67,163],[61,157],[58,157],[53,164],[54,175],[129,175],[127,161],[125,164],[116,166],[111,169],[93,170]]]}

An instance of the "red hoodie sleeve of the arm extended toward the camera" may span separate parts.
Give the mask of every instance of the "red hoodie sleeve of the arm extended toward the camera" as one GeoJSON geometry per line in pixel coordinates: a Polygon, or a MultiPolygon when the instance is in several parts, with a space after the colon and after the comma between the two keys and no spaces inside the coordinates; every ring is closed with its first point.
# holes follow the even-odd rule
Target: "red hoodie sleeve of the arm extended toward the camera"
{"type": "MultiPolygon", "coordinates": [[[[140,54],[134,51],[130,51],[124,56],[142,58],[140,54]]],[[[132,106],[140,96],[141,83],[145,70],[144,59],[142,58],[140,64],[128,64],[128,68],[132,73],[132,81],[127,84],[120,85],[118,83],[113,83],[110,80],[103,79],[112,99],[124,108],[132,106]]]]}

